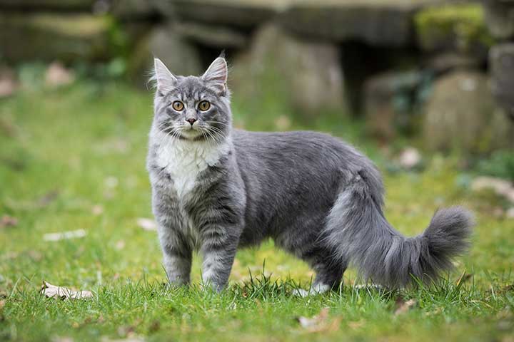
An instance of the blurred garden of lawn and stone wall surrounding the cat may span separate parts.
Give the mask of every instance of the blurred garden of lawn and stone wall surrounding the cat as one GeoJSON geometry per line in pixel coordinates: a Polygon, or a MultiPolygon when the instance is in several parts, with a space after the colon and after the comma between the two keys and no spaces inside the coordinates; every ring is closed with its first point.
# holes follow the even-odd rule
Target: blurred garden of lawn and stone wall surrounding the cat
{"type": "Polygon", "coordinates": [[[514,341],[513,182],[512,0],[0,0],[0,341],[514,341]],[[190,289],[166,288],[148,75],[221,51],[236,127],[358,146],[400,232],[473,210],[455,271],[397,291],[349,271],[298,298],[311,270],[269,241],[222,294],[198,257],[190,289]]]}

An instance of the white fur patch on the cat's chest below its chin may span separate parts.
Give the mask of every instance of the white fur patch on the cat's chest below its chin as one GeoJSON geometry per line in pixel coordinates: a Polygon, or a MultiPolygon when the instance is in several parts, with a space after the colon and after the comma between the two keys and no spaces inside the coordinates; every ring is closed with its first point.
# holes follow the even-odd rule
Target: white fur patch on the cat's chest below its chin
{"type": "Polygon", "coordinates": [[[216,165],[230,150],[230,143],[212,144],[204,141],[178,140],[166,138],[156,133],[159,139],[156,162],[163,167],[173,180],[179,198],[193,190],[198,174],[208,166],[216,165]]]}

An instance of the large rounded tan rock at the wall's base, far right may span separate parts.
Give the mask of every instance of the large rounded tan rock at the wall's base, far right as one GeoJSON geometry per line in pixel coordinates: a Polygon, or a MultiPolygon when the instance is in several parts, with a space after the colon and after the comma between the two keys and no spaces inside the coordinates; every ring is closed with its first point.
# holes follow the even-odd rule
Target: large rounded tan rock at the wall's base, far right
{"type": "Polygon", "coordinates": [[[455,71],[438,79],[424,108],[431,150],[489,152],[514,146],[514,123],[495,105],[487,76],[455,71]]]}

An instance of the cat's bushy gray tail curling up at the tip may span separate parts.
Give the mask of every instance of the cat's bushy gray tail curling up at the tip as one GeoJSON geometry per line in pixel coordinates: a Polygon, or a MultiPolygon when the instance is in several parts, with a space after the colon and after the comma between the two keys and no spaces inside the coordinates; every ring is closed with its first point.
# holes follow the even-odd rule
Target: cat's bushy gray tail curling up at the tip
{"type": "Polygon", "coordinates": [[[452,268],[451,259],[468,249],[473,215],[462,207],[439,209],[423,234],[403,237],[385,219],[381,193],[357,176],[338,197],[325,230],[325,241],[361,276],[393,288],[412,276],[435,279],[452,268]]]}

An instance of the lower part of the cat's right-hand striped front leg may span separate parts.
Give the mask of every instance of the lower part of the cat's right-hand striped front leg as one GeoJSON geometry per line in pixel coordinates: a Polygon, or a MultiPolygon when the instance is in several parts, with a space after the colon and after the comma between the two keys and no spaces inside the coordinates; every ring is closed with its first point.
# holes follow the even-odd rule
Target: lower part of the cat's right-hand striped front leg
{"type": "Polygon", "coordinates": [[[236,257],[240,229],[225,224],[208,224],[201,230],[202,281],[216,291],[228,282],[236,257]]]}

